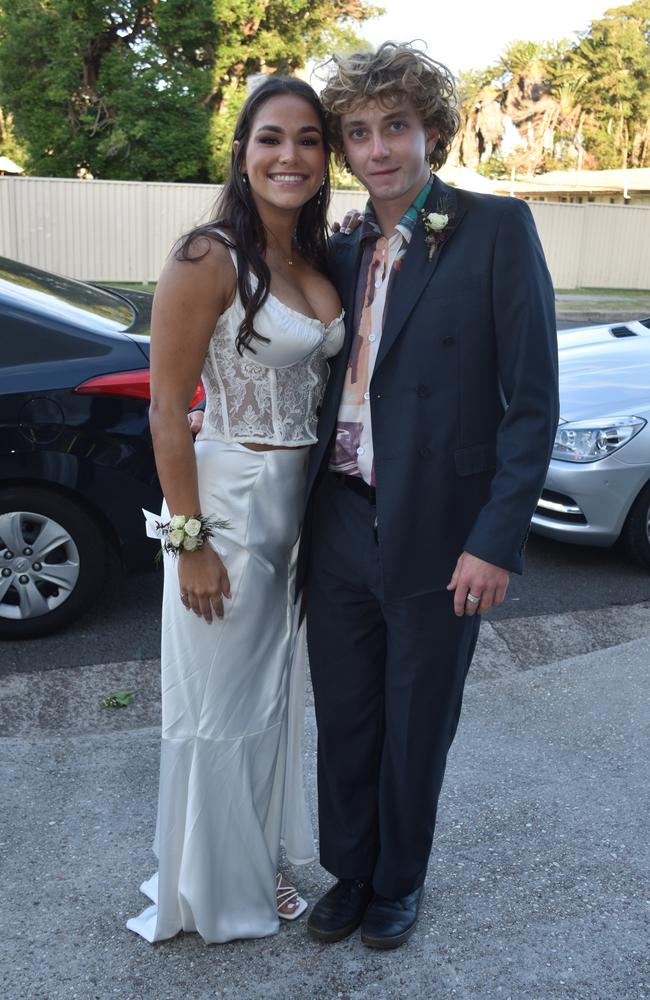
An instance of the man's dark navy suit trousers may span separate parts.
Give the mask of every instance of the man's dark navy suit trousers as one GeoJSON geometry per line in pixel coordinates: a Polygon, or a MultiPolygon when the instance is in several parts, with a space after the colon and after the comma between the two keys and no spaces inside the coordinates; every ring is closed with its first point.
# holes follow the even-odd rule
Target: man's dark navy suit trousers
{"type": "Polygon", "coordinates": [[[426,875],[479,618],[456,617],[447,591],[385,601],[374,507],[332,474],[314,505],[307,636],[321,864],[397,899],[426,875]]]}

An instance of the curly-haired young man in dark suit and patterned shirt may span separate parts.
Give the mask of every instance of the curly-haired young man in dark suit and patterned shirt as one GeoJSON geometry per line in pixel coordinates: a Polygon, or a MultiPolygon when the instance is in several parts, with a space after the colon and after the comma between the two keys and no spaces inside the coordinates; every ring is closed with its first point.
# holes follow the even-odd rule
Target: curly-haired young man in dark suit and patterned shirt
{"type": "Polygon", "coordinates": [[[432,175],[458,129],[409,45],[335,59],[322,94],[370,201],[332,244],[347,341],[312,451],[299,575],[318,722],[310,933],[412,933],[480,616],[522,569],[557,428],[554,298],[532,216],[432,175]]]}

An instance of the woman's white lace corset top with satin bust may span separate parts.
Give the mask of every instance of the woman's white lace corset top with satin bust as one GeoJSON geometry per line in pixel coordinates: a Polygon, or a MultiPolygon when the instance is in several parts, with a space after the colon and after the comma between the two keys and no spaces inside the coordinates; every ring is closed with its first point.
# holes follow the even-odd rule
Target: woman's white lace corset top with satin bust
{"type": "MultiPolygon", "coordinates": [[[[236,269],[234,250],[230,256],[236,269]]],[[[217,321],[203,364],[206,405],[199,440],[314,444],[327,359],[343,346],[343,314],[326,326],[269,294],[254,320],[269,343],[254,340],[256,353],[244,348],[240,355],[235,341],[243,318],[237,292],[217,321]]]]}

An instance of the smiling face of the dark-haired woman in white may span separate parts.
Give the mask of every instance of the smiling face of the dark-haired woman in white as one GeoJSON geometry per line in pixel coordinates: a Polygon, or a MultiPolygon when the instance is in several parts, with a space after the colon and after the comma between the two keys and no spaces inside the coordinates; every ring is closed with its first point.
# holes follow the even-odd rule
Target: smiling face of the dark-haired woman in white
{"type": "Polygon", "coordinates": [[[258,212],[299,212],[326,172],[325,143],[314,108],[294,94],[269,98],[251,123],[241,169],[258,212]]]}

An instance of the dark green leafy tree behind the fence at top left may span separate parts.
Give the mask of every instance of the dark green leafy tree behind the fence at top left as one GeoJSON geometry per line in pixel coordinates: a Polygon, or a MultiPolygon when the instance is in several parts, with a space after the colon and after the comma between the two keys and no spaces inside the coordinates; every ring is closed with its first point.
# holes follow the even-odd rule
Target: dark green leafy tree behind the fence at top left
{"type": "Polygon", "coordinates": [[[30,172],[207,179],[210,8],[3,0],[0,94],[30,172]]]}

